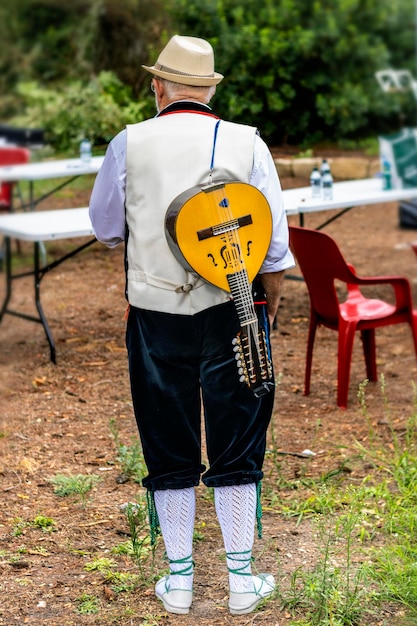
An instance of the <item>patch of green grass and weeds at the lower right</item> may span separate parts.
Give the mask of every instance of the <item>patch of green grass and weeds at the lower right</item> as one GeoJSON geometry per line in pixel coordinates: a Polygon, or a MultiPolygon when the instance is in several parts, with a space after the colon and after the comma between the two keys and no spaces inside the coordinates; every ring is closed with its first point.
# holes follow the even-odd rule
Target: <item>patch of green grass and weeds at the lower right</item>
{"type": "MultiPolygon", "coordinates": [[[[354,483],[339,467],[318,479],[298,478],[291,499],[275,497],[269,503],[299,524],[312,520],[318,546],[318,559],[295,570],[289,586],[278,592],[281,606],[293,616],[292,626],[365,626],[384,605],[402,616],[396,624],[417,623],[416,401],[399,438],[381,377],[390,432],[390,440],[383,441],[368,416],[366,385],[358,396],[369,445],[356,443],[353,459],[369,467],[366,477],[354,483]]],[[[270,485],[268,495],[273,492],[270,485]]]]}

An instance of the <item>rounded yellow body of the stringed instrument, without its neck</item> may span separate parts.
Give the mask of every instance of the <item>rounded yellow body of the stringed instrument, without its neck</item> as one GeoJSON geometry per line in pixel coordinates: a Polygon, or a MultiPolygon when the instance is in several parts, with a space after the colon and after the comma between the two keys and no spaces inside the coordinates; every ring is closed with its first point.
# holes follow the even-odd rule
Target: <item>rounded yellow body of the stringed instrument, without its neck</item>
{"type": "Polygon", "coordinates": [[[242,182],[214,182],[180,194],[166,213],[168,244],[177,260],[230,291],[229,278],[246,270],[249,283],[269,248],[272,216],[265,196],[242,182]]]}

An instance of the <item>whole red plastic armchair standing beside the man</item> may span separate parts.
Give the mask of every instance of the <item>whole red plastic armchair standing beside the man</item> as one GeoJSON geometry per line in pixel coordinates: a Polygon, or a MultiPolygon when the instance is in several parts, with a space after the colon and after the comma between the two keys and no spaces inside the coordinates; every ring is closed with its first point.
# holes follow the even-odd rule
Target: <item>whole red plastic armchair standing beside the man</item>
{"type": "Polygon", "coordinates": [[[366,375],[377,380],[375,328],[410,324],[417,355],[417,311],[413,310],[410,283],[401,276],[360,278],[344,260],[336,242],[329,235],[299,226],[290,227],[291,248],[297,258],[310,296],[310,327],[304,395],[310,393],[311,364],[317,327],[338,331],[337,404],[348,403],[350,364],[355,332],[361,333],[366,375]],[[335,281],[346,284],[347,296],[340,302],[335,281]],[[391,285],[395,303],[366,298],[361,285],[391,285]]]}

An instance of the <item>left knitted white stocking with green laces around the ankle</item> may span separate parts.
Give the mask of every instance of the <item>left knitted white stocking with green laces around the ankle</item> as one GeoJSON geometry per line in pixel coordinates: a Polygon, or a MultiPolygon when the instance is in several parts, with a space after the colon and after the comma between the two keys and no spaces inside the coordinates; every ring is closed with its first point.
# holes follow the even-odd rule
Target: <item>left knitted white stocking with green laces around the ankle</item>
{"type": "Polygon", "coordinates": [[[191,591],[193,588],[194,487],[155,491],[154,498],[169,559],[171,572],[169,587],[191,591]]]}

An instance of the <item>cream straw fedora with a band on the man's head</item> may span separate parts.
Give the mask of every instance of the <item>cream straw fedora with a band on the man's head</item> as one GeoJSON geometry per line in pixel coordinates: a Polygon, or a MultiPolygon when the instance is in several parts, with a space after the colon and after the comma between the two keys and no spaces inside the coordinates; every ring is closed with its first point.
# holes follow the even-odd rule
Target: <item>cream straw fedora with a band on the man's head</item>
{"type": "Polygon", "coordinates": [[[154,76],[182,85],[206,87],[223,80],[222,74],[214,71],[213,48],[208,41],[198,37],[174,35],[155,65],[142,67],[154,76]]]}

